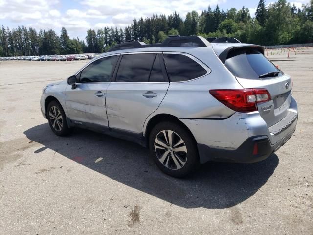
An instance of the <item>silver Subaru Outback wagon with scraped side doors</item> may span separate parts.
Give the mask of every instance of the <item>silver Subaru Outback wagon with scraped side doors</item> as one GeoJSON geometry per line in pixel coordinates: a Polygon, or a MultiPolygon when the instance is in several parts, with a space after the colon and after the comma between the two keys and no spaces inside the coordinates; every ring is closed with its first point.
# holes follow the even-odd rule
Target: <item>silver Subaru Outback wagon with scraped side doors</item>
{"type": "Polygon", "coordinates": [[[81,127],[134,141],[182,177],[207,161],[258,162],[284,145],[298,118],[291,90],[264,47],[176,36],[116,45],[47,85],[40,104],[56,135],[81,127]]]}

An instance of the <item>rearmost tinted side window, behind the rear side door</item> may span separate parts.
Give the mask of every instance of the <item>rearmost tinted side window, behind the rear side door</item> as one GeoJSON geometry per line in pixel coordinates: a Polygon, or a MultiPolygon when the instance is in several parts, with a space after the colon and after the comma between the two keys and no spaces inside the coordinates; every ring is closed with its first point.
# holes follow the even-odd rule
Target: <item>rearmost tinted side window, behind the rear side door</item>
{"type": "Polygon", "coordinates": [[[179,54],[164,54],[171,82],[188,81],[206,74],[206,70],[193,59],[179,54]]]}

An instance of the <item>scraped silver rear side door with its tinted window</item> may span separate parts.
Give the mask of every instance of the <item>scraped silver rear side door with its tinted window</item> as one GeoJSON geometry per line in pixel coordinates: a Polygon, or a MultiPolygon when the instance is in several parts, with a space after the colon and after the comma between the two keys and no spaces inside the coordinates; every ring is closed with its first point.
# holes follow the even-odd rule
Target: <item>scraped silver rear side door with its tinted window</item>
{"type": "Polygon", "coordinates": [[[106,107],[109,127],[142,133],[146,118],[162,102],[169,81],[161,53],[123,54],[109,85],[106,107]]]}

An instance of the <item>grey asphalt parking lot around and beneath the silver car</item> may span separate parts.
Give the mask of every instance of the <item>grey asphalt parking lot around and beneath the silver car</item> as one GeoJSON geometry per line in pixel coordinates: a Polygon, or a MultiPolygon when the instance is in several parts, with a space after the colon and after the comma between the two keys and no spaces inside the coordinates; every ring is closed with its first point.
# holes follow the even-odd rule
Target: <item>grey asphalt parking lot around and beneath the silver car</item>
{"type": "Polygon", "coordinates": [[[313,234],[313,49],[269,58],[293,78],[293,137],[255,164],[171,178],[129,141],[57,137],[39,99],[86,61],[0,64],[0,234],[313,234]]]}

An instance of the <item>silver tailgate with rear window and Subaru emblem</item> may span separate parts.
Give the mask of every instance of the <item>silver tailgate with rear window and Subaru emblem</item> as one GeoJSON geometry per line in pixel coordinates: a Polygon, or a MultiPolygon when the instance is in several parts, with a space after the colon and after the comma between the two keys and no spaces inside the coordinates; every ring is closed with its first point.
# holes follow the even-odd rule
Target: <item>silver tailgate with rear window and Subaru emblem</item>
{"type": "Polygon", "coordinates": [[[258,104],[268,126],[285,118],[291,103],[291,77],[280,71],[262,53],[245,48],[231,51],[225,66],[244,88],[265,88],[271,101],[258,104]]]}

